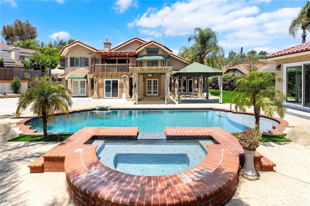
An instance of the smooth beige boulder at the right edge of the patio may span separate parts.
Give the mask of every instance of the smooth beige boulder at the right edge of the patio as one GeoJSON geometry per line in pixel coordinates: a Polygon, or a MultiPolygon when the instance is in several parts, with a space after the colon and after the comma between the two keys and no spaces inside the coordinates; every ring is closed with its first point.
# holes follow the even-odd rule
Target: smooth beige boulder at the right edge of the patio
{"type": "Polygon", "coordinates": [[[292,130],[287,132],[286,138],[292,140],[292,142],[299,145],[309,146],[310,145],[310,125],[309,124],[298,124],[292,130]]]}

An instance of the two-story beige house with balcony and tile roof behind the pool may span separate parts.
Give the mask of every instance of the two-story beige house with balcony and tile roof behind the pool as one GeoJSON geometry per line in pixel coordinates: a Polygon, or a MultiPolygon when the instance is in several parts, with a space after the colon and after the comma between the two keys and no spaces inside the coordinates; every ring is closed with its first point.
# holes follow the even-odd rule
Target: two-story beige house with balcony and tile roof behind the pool
{"type": "MultiPolygon", "coordinates": [[[[108,39],[103,44],[104,49],[81,41],[63,47],[64,84],[73,96],[170,99],[170,75],[189,64],[154,40],[135,37],[112,48],[108,39]]],[[[197,78],[181,83],[182,92],[193,93],[197,78]]]]}

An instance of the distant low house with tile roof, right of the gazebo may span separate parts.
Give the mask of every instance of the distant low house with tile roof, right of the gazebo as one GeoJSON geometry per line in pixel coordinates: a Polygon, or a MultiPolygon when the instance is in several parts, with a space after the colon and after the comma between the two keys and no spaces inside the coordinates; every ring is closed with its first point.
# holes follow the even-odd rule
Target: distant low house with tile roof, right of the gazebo
{"type": "MultiPolygon", "coordinates": [[[[247,75],[249,73],[249,64],[238,64],[232,67],[229,67],[226,70],[227,74],[245,74],[247,75]]],[[[255,69],[262,72],[265,71],[267,69],[267,71],[272,71],[276,69],[275,64],[256,64],[254,65],[255,69]]]]}

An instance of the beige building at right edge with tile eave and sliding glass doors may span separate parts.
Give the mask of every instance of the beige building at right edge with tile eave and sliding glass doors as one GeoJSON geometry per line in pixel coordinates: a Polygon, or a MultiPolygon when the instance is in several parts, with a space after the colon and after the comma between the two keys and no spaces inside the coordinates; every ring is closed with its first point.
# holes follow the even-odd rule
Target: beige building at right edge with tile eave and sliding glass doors
{"type": "Polygon", "coordinates": [[[286,95],[285,106],[310,112],[310,42],[266,55],[277,65],[276,87],[286,95]]]}

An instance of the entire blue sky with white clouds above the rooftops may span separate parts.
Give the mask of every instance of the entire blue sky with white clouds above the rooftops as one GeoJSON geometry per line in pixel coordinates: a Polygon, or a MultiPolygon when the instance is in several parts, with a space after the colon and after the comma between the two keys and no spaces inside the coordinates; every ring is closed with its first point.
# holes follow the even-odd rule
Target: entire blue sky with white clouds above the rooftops
{"type": "MultiPolygon", "coordinates": [[[[37,40],[75,39],[103,49],[133,37],[155,40],[178,54],[197,27],[217,31],[225,50],[272,53],[301,44],[288,27],[306,0],[0,0],[0,25],[29,20],[37,40]]],[[[2,40],[2,38],[1,38],[2,40]]],[[[310,40],[310,32],[306,41],[310,40]]],[[[189,44],[190,45],[190,44],[189,44]]]]}

